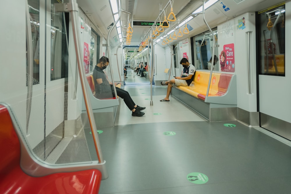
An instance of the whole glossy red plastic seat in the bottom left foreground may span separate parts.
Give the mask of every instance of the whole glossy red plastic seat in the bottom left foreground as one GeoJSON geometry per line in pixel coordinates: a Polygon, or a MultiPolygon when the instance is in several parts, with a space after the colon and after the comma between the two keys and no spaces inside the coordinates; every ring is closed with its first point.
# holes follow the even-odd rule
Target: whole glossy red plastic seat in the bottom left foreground
{"type": "Polygon", "coordinates": [[[20,168],[20,144],[6,107],[0,105],[0,193],[98,193],[99,170],[31,177],[20,168]]]}

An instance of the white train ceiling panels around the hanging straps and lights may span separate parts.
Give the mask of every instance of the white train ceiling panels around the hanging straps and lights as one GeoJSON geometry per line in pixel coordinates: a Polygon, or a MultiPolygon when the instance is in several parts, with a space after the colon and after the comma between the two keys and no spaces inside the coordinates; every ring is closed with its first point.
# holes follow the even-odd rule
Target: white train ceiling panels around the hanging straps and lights
{"type": "MultiPolygon", "coordinates": [[[[118,1],[118,0],[117,0],[118,1]]],[[[145,33],[149,32],[150,26],[132,26],[132,21],[155,21],[160,13],[160,4],[162,9],[165,9],[166,17],[171,12],[171,5],[168,3],[169,0],[120,0],[121,8],[131,13],[122,13],[120,20],[123,36],[126,35],[126,28],[128,27],[128,21],[131,22],[133,29],[131,46],[138,46],[138,44],[145,37],[145,33]]],[[[215,1],[215,0],[210,0],[215,1]]],[[[206,1],[208,2],[208,1],[206,1]]],[[[217,24],[231,19],[236,15],[243,14],[245,12],[259,11],[269,6],[273,6],[277,3],[281,3],[281,0],[225,0],[217,1],[212,7],[205,11],[205,18],[211,28],[217,26],[217,24]],[[229,8],[225,11],[223,5],[229,8]]],[[[96,26],[98,33],[102,34],[106,39],[108,37],[110,24],[114,23],[113,14],[109,0],[77,0],[79,7],[84,11],[88,18],[92,21],[93,25],[96,26]]],[[[176,16],[176,21],[170,23],[170,28],[177,26],[178,22],[184,21],[184,19],[192,13],[194,10],[202,5],[201,0],[174,0],[173,1],[173,12],[176,16]]],[[[161,14],[161,21],[164,20],[164,12],[161,14]]],[[[180,39],[177,39],[172,44],[176,44],[179,40],[185,39],[203,33],[208,30],[203,22],[203,16],[198,15],[189,24],[194,28],[188,35],[184,35],[180,39]]],[[[169,28],[168,28],[169,29],[169,28]]],[[[152,32],[151,32],[152,33],[152,32]]],[[[165,33],[165,32],[164,32],[165,33]]],[[[178,31],[177,31],[178,33],[178,31]]],[[[124,39],[125,40],[125,39],[124,39]]],[[[110,45],[117,46],[120,42],[118,39],[118,33],[116,28],[113,29],[111,36],[109,37],[110,45]]],[[[161,44],[160,41],[158,44],[161,44]]],[[[136,48],[128,47],[127,50],[133,51],[136,48]]],[[[130,53],[129,53],[130,55],[130,53]]]]}

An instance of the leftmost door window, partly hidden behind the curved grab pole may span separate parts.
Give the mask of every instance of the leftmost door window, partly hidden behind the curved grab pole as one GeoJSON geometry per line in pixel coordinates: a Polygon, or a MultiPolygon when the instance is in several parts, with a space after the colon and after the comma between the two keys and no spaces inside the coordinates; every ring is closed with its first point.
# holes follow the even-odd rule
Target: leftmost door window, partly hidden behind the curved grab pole
{"type": "MultiPolygon", "coordinates": [[[[33,51],[33,85],[39,84],[39,0],[28,0],[33,51]]],[[[27,59],[27,57],[26,57],[27,59]]],[[[28,61],[26,60],[26,75],[28,61]]],[[[27,85],[27,84],[26,84],[27,85]]]]}

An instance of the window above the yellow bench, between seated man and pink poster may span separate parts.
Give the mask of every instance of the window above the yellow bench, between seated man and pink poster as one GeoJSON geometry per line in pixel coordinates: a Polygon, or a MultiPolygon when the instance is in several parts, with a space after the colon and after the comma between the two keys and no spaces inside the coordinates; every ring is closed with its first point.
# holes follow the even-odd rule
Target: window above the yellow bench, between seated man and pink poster
{"type": "MultiPolygon", "coordinates": [[[[207,62],[212,58],[212,45],[213,41],[217,41],[217,28],[212,29],[214,37],[210,31],[206,31],[200,35],[192,37],[194,55],[194,61],[196,69],[208,69],[207,62]]],[[[214,51],[214,55],[218,55],[217,49],[214,51]]],[[[218,65],[214,66],[214,70],[218,71],[218,65]]]]}

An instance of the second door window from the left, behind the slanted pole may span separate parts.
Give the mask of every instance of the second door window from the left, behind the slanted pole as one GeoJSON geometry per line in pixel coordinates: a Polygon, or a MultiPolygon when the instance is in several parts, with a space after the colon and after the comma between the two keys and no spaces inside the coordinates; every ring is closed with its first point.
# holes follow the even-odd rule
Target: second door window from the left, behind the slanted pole
{"type": "MultiPolygon", "coordinates": [[[[52,12],[54,3],[59,1],[52,0],[52,12]]],[[[68,48],[65,34],[67,25],[67,14],[51,13],[51,81],[68,77],[68,48]]]]}

